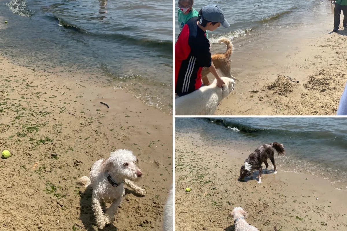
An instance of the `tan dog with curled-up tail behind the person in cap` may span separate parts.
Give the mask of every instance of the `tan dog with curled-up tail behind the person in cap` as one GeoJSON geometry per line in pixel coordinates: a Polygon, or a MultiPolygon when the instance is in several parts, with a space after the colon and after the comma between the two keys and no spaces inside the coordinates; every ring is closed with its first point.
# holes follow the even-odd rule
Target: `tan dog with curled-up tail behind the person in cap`
{"type": "MultiPolygon", "coordinates": [[[[220,69],[220,71],[223,73],[223,76],[232,78],[235,80],[235,78],[231,75],[230,73],[230,56],[232,53],[232,42],[226,38],[226,37],[222,37],[218,40],[219,43],[223,42],[227,45],[227,51],[225,53],[216,53],[212,55],[212,62],[213,65],[216,69],[220,69]]],[[[203,67],[202,71],[201,71],[201,79],[202,79],[202,83],[205,86],[210,85],[210,81],[207,77],[207,75],[210,73],[209,68],[207,67],[203,67]]]]}

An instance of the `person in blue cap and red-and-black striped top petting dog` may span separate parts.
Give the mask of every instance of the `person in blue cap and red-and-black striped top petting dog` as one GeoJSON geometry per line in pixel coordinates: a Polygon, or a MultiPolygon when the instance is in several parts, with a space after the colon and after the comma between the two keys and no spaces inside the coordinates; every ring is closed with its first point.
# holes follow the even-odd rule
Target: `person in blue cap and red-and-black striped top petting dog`
{"type": "Polygon", "coordinates": [[[201,70],[208,67],[222,87],[223,80],[215,69],[210,52],[207,30],[214,31],[220,25],[228,28],[224,12],[217,5],[201,8],[198,17],[192,17],[183,26],[175,43],[175,93],[178,96],[189,94],[202,86],[201,70]]]}

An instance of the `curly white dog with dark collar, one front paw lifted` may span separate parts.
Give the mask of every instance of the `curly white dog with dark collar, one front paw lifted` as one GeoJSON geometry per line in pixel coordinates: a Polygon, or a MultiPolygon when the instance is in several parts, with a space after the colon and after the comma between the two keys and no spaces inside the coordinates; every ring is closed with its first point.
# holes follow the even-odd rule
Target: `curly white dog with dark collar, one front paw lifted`
{"type": "Polygon", "coordinates": [[[90,179],[86,176],[79,179],[84,188],[93,188],[92,208],[98,228],[103,229],[106,224],[113,222],[122,196],[125,195],[124,183],[136,193],[145,195],[146,191],[131,181],[136,181],[142,176],[136,162],[132,151],[119,149],[106,159],[100,159],[93,164],[90,179]],[[102,212],[101,200],[112,203],[105,214],[102,212]]]}

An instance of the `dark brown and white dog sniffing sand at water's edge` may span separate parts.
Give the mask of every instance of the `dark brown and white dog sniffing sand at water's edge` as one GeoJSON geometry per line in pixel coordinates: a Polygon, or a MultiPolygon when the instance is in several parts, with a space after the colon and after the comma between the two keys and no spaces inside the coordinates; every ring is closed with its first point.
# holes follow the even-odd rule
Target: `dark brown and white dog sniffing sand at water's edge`
{"type": "Polygon", "coordinates": [[[259,181],[261,183],[261,173],[263,170],[262,164],[264,163],[268,170],[268,160],[270,158],[271,163],[273,164],[274,174],[277,173],[275,159],[274,159],[274,149],[277,151],[278,155],[283,155],[285,153],[283,144],[278,144],[277,142],[273,142],[272,144],[263,144],[259,148],[255,149],[248,158],[245,160],[244,165],[241,166],[240,176],[238,180],[243,180],[246,176],[253,177],[253,172],[259,170],[259,181]]]}

